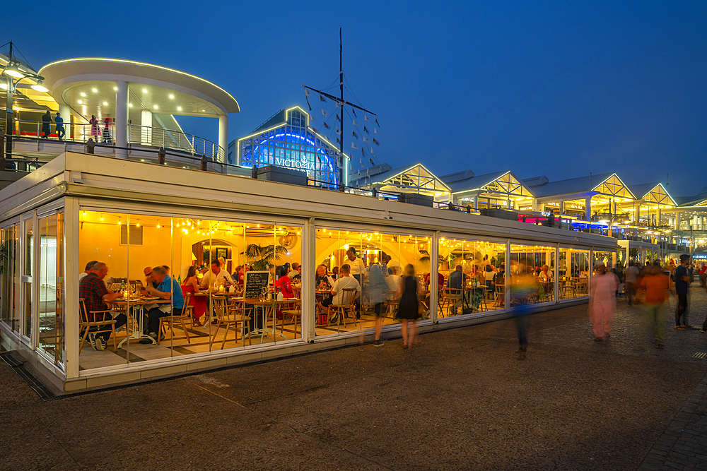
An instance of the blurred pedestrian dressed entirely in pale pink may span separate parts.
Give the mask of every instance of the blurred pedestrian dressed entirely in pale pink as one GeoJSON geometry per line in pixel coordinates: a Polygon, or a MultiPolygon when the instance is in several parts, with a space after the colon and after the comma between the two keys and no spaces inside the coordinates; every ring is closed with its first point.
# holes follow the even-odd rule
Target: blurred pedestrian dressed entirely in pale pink
{"type": "Polygon", "coordinates": [[[619,278],[600,263],[592,275],[592,287],[589,295],[589,317],[594,326],[595,342],[602,342],[611,337],[614,318],[617,314],[616,292],[619,278]]]}

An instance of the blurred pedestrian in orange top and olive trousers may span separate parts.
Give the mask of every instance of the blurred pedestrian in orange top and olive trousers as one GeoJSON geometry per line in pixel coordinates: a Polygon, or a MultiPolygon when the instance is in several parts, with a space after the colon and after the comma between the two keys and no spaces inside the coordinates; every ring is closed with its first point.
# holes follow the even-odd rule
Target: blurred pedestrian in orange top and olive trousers
{"type": "Polygon", "coordinates": [[[670,276],[660,270],[660,264],[645,270],[638,285],[643,292],[643,334],[638,339],[638,350],[643,350],[647,330],[653,333],[655,348],[662,348],[665,342],[665,321],[667,319],[668,298],[670,296],[670,276]]]}

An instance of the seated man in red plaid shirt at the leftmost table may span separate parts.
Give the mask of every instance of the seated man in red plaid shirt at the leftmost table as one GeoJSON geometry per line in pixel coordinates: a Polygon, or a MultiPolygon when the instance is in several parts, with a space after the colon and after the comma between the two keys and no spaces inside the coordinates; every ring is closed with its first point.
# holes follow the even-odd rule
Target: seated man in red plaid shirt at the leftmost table
{"type": "MultiPolygon", "coordinates": [[[[103,262],[96,262],[90,273],[83,277],[78,285],[78,297],[83,298],[83,302],[86,304],[89,322],[110,320],[112,316],[107,312],[93,313],[95,311],[107,311],[106,301],[110,302],[123,297],[122,292],[112,293],[105,287],[103,278],[107,274],[108,266],[103,262]]],[[[118,314],[115,317],[115,328],[123,326],[126,322],[127,316],[118,314]]],[[[105,326],[102,326],[102,328],[105,329],[105,326]]],[[[90,346],[93,347],[93,350],[105,350],[105,345],[110,338],[110,330],[99,333],[93,333],[91,332],[92,330],[95,332],[95,330],[99,330],[99,327],[95,326],[89,329],[88,340],[90,341],[90,346]]]]}

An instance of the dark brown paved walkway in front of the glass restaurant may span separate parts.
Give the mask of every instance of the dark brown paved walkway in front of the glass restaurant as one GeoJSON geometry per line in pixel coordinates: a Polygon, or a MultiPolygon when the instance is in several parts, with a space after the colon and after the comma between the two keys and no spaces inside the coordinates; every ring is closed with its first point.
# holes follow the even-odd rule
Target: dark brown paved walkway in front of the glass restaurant
{"type": "Polygon", "coordinates": [[[48,402],[0,362],[0,469],[707,469],[707,335],[638,352],[640,307],[602,343],[586,312],[532,316],[522,362],[513,321],[48,402]]]}

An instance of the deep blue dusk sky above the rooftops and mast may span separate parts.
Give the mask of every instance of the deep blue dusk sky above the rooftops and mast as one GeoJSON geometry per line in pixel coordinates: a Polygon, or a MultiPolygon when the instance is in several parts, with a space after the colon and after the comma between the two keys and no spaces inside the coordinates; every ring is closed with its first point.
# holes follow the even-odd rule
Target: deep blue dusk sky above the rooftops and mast
{"type": "MultiPolygon", "coordinates": [[[[627,184],[670,173],[676,196],[707,186],[705,1],[80,4],[32,8],[0,44],[37,69],[107,56],[194,73],[240,103],[232,140],[305,107],[300,85],[338,83],[342,25],[360,101],[346,99],[378,113],[378,162],[551,180],[616,171],[627,184]]],[[[216,119],[179,120],[217,140],[216,119]]]]}

